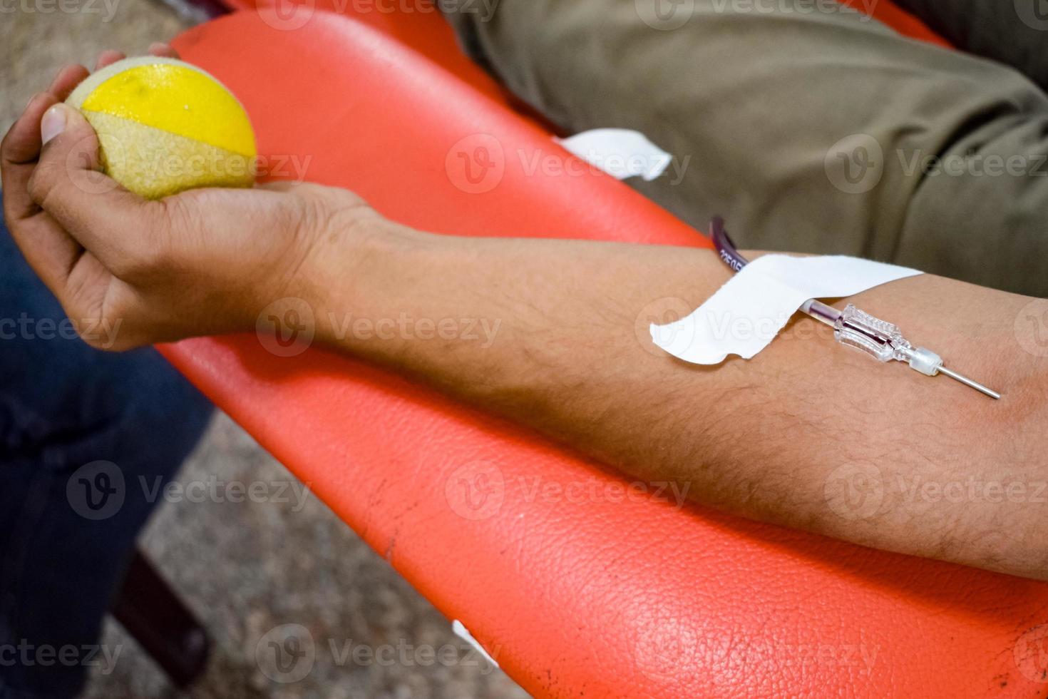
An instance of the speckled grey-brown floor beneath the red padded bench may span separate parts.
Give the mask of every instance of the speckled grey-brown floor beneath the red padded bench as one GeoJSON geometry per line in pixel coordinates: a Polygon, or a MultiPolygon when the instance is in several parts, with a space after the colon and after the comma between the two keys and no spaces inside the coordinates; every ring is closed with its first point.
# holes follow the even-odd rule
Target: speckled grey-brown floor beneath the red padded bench
{"type": "MultiPolygon", "coordinates": [[[[104,48],[143,52],[187,26],[187,20],[149,0],[18,0],[2,10],[4,132],[63,63],[90,66],[104,48]]],[[[289,483],[293,494],[302,494],[293,477],[223,415],[216,416],[179,480],[210,478],[289,483]]],[[[439,612],[311,494],[301,507],[294,497],[287,503],[166,502],[144,546],[215,639],[209,671],[188,696],[527,697],[471,652],[439,612]],[[257,652],[263,637],[287,632],[284,625],[308,630],[316,649],[308,675],[287,683],[271,679],[291,678],[275,673],[257,652]],[[428,661],[431,650],[446,645],[457,650],[438,654],[442,661],[428,661]],[[368,660],[366,652],[345,655],[361,647],[381,660],[368,660]]],[[[117,625],[107,624],[103,642],[121,654],[112,672],[95,671],[88,697],[182,696],[117,625]]]]}

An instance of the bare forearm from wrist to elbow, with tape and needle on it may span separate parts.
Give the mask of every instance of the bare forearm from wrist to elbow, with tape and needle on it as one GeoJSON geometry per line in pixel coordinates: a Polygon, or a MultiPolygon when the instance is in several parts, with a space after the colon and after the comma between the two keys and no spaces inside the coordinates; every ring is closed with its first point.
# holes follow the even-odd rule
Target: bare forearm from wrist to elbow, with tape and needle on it
{"type": "Polygon", "coordinates": [[[931,276],[854,298],[1002,390],[995,401],[844,349],[807,318],[750,361],[671,357],[648,324],[727,280],[709,250],[387,225],[352,274],[347,241],[321,256],[326,342],[701,503],[1048,578],[1048,377],[1013,329],[1028,299],[931,276]]]}

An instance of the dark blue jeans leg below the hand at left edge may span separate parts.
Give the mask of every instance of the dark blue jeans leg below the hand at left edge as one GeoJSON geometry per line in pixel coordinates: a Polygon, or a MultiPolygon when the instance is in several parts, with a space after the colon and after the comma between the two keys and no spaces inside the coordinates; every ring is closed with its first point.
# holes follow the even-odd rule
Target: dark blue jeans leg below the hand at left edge
{"type": "Polygon", "coordinates": [[[102,619],[211,412],[155,350],[80,341],[0,224],[0,699],[74,696],[126,650],[102,619]]]}

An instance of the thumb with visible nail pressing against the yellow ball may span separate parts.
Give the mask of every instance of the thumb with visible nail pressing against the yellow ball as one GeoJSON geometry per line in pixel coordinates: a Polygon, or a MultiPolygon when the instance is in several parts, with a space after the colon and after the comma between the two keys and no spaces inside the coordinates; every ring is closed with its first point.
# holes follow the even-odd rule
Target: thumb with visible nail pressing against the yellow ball
{"type": "Polygon", "coordinates": [[[150,244],[156,202],[99,172],[99,138],[79,111],[58,104],[41,121],[44,141],[29,196],[107,268],[116,269],[150,244]]]}

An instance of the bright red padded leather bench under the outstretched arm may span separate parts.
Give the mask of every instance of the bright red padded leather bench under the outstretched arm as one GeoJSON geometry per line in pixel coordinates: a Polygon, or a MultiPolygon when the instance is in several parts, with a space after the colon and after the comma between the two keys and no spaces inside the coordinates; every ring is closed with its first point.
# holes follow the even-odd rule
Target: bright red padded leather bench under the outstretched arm
{"type": "MultiPolygon", "coordinates": [[[[428,231],[703,244],[611,177],[527,170],[537,152],[570,156],[436,14],[300,12],[176,41],[244,103],[262,153],[310,158],[309,179],[428,231]],[[498,184],[457,187],[456,154],[493,143],[498,184]]],[[[315,347],[161,349],[534,696],[1048,693],[1048,585],[615,497],[630,481],[607,467],[315,347]]]]}

